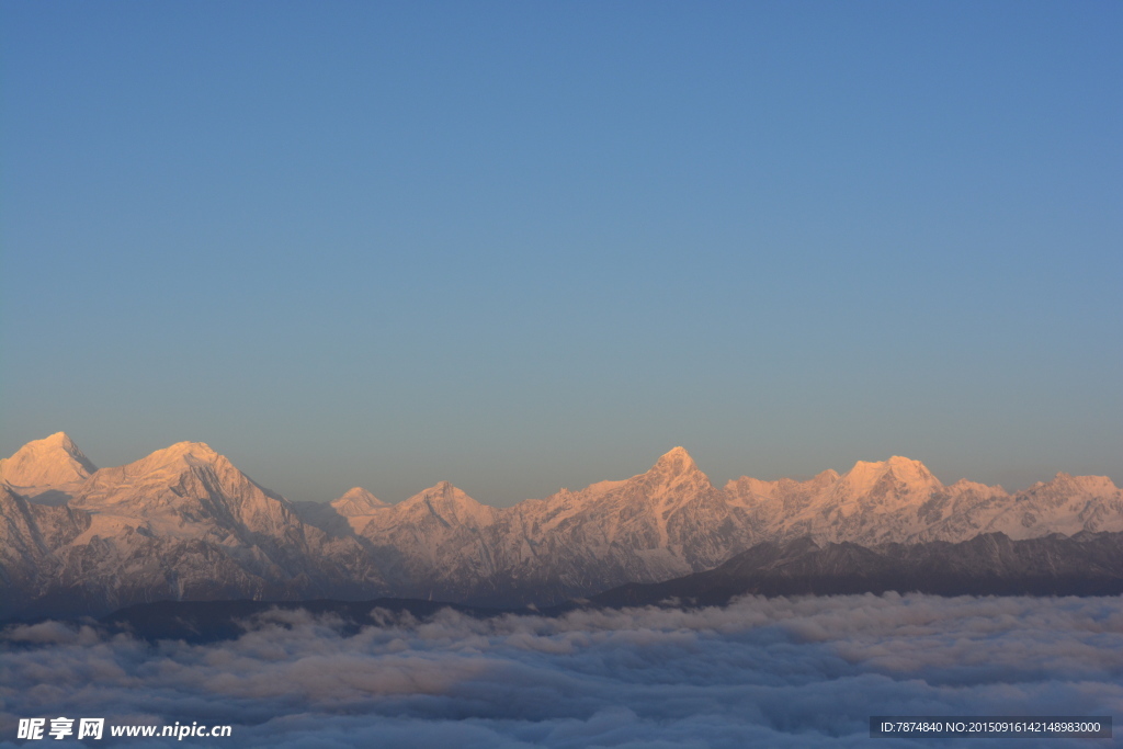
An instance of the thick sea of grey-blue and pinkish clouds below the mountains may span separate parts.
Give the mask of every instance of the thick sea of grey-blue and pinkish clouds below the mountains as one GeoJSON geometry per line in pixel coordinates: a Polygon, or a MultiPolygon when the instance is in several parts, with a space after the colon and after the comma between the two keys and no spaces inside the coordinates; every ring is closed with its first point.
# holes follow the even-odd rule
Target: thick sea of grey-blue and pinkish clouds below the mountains
{"type": "Polygon", "coordinates": [[[112,740],[107,728],[89,746],[284,749],[978,746],[870,739],[869,716],[1123,715],[1117,596],[746,597],[424,622],[375,610],[353,636],[331,618],[273,611],[246,625],[211,645],[9,628],[0,747],[21,743],[18,719],[60,715],[234,727],[179,742],[112,740]]]}

